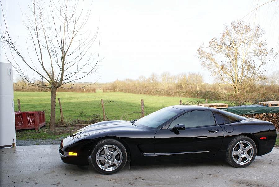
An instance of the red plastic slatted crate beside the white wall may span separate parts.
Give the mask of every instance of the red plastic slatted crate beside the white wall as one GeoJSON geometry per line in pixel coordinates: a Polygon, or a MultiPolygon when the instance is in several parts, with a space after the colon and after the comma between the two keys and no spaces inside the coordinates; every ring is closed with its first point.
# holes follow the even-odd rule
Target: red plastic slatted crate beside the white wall
{"type": "Polygon", "coordinates": [[[45,126],[44,111],[15,112],[15,130],[39,130],[42,126],[45,126]]]}

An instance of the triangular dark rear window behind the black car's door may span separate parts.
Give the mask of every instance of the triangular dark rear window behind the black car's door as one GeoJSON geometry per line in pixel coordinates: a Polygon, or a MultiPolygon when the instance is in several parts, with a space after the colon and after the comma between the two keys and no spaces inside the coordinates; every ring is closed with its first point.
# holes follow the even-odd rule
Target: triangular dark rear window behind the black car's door
{"type": "Polygon", "coordinates": [[[241,120],[245,120],[245,117],[238,116],[237,114],[233,114],[231,112],[227,112],[224,110],[215,109],[212,110],[217,125],[222,125],[226,123],[233,123],[241,120]]]}

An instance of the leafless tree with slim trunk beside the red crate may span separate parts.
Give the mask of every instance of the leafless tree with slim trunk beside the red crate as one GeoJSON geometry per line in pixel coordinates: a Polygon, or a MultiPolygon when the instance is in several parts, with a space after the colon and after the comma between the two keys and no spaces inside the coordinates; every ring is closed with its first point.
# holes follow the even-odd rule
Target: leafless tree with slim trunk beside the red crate
{"type": "Polygon", "coordinates": [[[95,59],[94,52],[90,50],[98,29],[93,34],[85,30],[91,7],[84,7],[83,2],[79,3],[78,0],[53,0],[47,6],[42,1],[33,0],[29,4],[32,16],[25,14],[27,19],[23,21],[31,42],[31,47],[26,42],[27,54],[20,50],[10,34],[7,10],[4,13],[2,2],[1,9],[3,23],[0,41],[7,60],[13,64],[25,84],[51,90],[49,126],[53,130],[57,89],[69,83],[73,86],[77,80],[93,73],[99,62],[99,49],[96,50],[95,59]],[[33,77],[27,75],[26,69],[33,71],[33,77]]]}

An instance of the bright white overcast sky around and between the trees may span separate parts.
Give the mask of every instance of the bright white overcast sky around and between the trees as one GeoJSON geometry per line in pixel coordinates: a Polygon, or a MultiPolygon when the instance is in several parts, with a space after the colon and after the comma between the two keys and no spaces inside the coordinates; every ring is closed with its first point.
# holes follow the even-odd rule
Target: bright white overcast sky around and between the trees
{"type": "MultiPolygon", "coordinates": [[[[28,32],[22,25],[25,16],[22,16],[21,10],[29,14],[28,2],[8,0],[10,32],[13,38],[18,38],[22,52],[28,32]]],[[[89,2],[86,1],[90,5],[89,2]]],[[[257,3],[261,5],[265,2],[268,1],[95,0],[87,29],[94,33],[100,23],[100,57],[104,59],[96,72],[100,76],[99,82],[136,79],[140,75],[148,77],[152,72],[161,74],[164,71],[173,75],[201,72],[206,82],[212,82],[210,73],[201,67],[196,57],[197,48],[201,43],[207,46],[211,38],[218,37],[224,24],[241,19],[257,3]]],[[[6,0],[2,4],[6,5],[6,0]]],[[[277,51],[278,12],[279,0],[264,5],[257,13],[254,11],[243,19],[252,25],[254,21],[260,24],[266,31],[264,37],[268,47],[277,51]]],[[[268,64],[268,72],[279,70],[278,59],[268,64]]],[[[0,61],[7,62],[2,49],[0,61]]],[[[96,80],[97,76],[91,75],[81,82],[96,80]]]]}

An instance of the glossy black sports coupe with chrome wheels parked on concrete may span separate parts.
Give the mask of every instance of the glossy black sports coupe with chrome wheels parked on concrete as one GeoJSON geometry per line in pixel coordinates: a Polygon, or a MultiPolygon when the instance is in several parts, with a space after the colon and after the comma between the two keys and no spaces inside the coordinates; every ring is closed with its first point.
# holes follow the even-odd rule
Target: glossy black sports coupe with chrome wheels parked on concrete
{"type": "Polygon", "coordinates": [[[65,163],[87,165],[90,160],[103,174],[115,173],[127,162],[135,166],[226,160],[242,168],[269,153],[275,141],[271,122],[215,108],[176,105],[138,120],[88,125],[63,139],[59,153],[65,163]]]}

